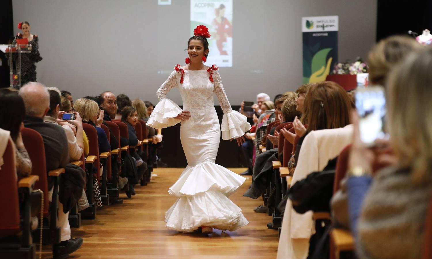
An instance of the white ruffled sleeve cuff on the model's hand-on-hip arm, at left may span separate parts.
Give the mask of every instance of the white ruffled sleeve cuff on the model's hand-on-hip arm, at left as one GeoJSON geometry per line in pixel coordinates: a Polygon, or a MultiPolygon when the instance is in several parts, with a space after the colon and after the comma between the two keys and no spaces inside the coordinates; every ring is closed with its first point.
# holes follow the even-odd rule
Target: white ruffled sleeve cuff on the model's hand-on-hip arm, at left
{"type": "Polygon", "coordinates": [[[146,125],[155,129],[174,126],[181,121],[180,119],[174,119],[178,114],[181,114],[180,107],[170,99],[163,99],[156,104],[146,125]]]}

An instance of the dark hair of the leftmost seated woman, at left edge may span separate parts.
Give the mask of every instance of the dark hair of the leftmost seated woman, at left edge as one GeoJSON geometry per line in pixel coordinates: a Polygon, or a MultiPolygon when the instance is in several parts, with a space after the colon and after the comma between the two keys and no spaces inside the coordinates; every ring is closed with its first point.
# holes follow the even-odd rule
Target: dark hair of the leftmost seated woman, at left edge
{"type": "Polygon", "coordinates": [[[24,101],[18,92],[0,89],[0,128],[10,131],[13,142],[16,142],[24,117],[24,101]]]}

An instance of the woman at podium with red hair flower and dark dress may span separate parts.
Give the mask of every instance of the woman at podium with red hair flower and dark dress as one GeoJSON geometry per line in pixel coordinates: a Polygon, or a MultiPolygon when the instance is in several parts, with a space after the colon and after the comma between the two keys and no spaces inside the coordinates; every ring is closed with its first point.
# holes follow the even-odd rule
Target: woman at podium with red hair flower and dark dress
{"type": "MultiPolygon", "coordinates": [[[[29,22],[20,22],[18,28],[21,33],[18,33],[13,40],[12,44],[18,43],[20,40],[27,39],[29,44],[29,51],[21,54],[21,85],[25,85],[27,82],[36,82],[36,62],[42,60],[41,54],[39,54],[39,38],[38,35],[30,33],[29,22]]],[[[25,42],[27,42],[25,41],[25,42]]],[[[13,55],[15,66],[18,66],[18,55],[13,55]]]]}

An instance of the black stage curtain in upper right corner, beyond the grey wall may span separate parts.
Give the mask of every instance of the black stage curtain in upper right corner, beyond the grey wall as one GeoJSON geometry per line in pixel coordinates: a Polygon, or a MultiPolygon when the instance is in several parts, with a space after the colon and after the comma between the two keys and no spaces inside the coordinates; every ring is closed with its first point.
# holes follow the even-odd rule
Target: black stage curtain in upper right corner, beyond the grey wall
{"type": "Polygon", "coordinates": [[[377,41],[424,29],[432,30],[431,0],[378,0],[377,41]]]}

